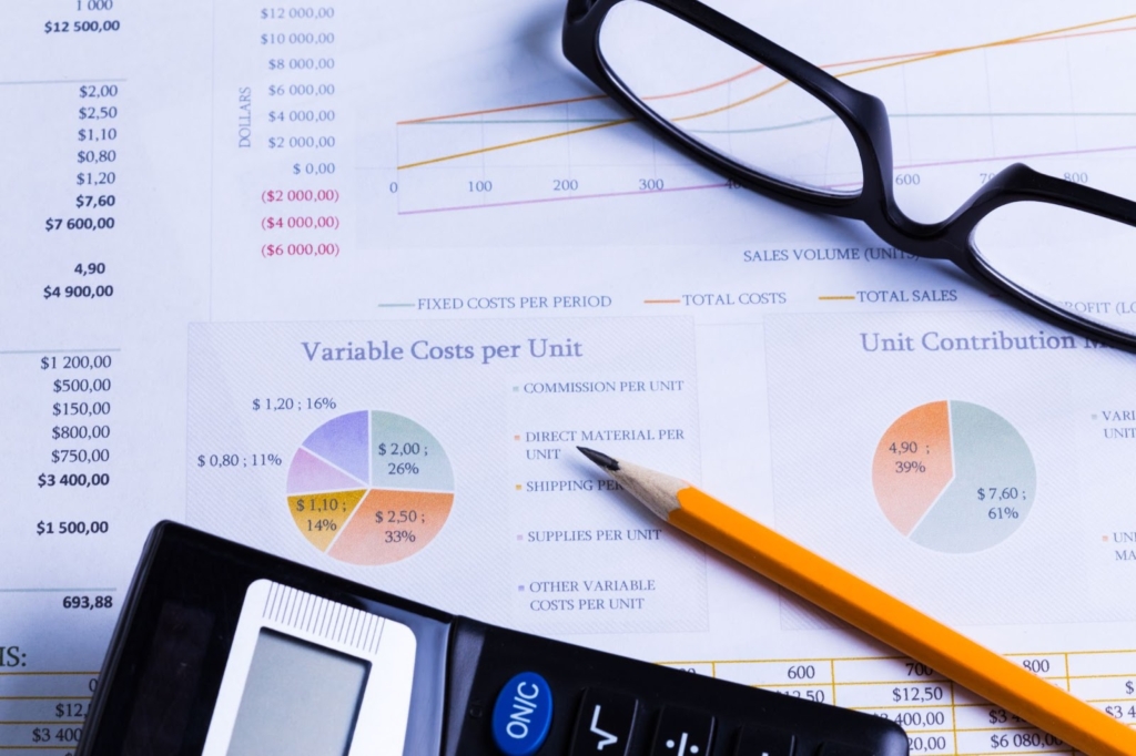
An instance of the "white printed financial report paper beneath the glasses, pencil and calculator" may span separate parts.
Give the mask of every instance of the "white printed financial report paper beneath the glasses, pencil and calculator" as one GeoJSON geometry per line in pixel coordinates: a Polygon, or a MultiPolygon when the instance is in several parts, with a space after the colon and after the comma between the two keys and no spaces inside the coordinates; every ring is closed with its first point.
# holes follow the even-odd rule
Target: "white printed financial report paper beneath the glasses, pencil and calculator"
{"type": "MultiPolygon", "coordinates": [[[[1131,2],[716,5],[884,100],[917,219],[1019,161],[1136,198],[1131,2]]],[[[0,750],[74,750],[173,519],[886,716],[913,753],[1070,753],[577,445],[1136,724],[1136,358],[625,123],[561,56],[562,6],[6,3],[0,750]]],[[[1136,317],[1136,285],[1074,306],[1136,317]]]]}

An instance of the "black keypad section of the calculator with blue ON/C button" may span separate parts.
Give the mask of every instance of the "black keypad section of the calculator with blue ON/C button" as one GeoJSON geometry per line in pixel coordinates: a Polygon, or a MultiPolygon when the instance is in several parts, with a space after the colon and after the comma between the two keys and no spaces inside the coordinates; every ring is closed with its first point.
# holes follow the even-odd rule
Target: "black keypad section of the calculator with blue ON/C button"
{"type": "Polygon", "coordinates": [[[902,729],[880,717],[468,622],[478,672],[457,702],[461,726],[444,756],[510,756],[520,748],[502,744],[513,746],[526,726],[532,736],[535,715],[553,708],[543,745],[527,756],[908,756],[902,729]],[[548,682],[549,705],[510,682],[519,670],[548,682]],[[508,737],[494,738],[474,705],[502,695],[508,737]]]}

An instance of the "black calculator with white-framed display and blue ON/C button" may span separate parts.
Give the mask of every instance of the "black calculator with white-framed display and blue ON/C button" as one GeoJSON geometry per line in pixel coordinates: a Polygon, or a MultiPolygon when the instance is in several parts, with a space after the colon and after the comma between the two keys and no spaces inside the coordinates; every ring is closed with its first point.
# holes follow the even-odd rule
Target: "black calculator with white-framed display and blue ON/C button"
{"type": "Polygon", "coordinates": [[[903,756],[893,722],[446,614],[173,522],[77,756],[903,756]]]}

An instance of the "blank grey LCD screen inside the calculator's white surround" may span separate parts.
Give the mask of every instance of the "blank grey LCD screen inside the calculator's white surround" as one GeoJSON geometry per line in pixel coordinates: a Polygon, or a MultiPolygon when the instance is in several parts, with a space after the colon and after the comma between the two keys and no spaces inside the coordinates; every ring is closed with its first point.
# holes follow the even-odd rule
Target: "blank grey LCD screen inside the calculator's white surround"
{"type": "Polygon", "coordinates": [[[228,756],[343,756],[370,663],[260,631],[228,756]]]}

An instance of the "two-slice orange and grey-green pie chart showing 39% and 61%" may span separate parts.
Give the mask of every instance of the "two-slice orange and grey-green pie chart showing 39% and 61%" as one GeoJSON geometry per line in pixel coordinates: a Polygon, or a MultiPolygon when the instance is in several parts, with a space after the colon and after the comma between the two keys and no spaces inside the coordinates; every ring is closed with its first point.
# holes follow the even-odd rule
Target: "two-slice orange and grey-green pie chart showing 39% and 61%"
{"type": "Polygon", "coordinates": [[[978,552],[1029,514],[1034,456],[1005,418],[970,402],[930,402],[895,420],[876,446],[871,481],[884,515],[927,548],[978,552]]]}

